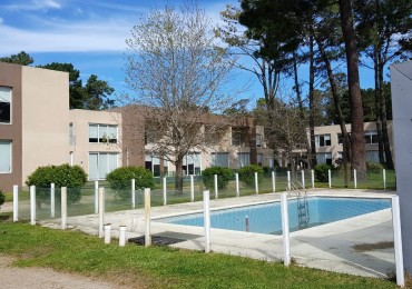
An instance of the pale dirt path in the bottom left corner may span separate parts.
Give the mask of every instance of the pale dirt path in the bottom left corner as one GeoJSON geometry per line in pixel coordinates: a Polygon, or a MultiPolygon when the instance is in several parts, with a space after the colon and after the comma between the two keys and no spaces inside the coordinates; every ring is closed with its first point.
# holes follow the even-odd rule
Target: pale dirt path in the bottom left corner
{"type": "Polygon", "coordinates": [[[0,288],[8,289],[115,289],[125,288],[80,275],[45,268],[12,267],[11,257],[0,255],[0,288]]]}

